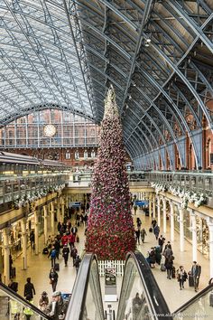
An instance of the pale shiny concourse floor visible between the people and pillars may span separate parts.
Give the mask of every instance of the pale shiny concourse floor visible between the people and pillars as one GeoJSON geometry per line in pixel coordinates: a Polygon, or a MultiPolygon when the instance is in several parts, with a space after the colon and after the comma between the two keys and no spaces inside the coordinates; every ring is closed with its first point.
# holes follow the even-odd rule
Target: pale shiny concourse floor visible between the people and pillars
{"type": "MultiPolygon", "coordinates": [[[[157,240],[153,233],[149,232],[149,227],[151,225],[151,217],[145,217],[143,211],[138,211],[137,215],[134,215],[134,223],[136,217],[140,217],[142,220],[142,227],[145,228],[147,236],[145,237],[144,244],[137,246],[137,249],[141,250],[144,256],[147,256],[147,251],[157,245],[157,240]]],[[[51,225],[51,221],[49,221],[51,225]]],[[[166,241],[170,240],[170,221],[167,221],[167,233],[163,234],[166,241]]],[[[136,226],[136,223],[135,223],[136,226]]],[[[84,227],[79,227],[79,243],[76,244],[76,247],[79,251],[79,255],[84,249],[84,227]]],[[[51,233],[49,233],[51,234],[51,233]]],[[[162,234],[162,232],[160,232],[162,234]]],[[[183,265],[184,268],[189,271],[192,264],[192,247],[190,242],[185,240],[185,250],[180,252],[180,237],[179,233],[175,231],[175,240],[172,245],[172,250],[174,253],[174,266],[179,268],[180,265],[183,265]]],[[[38,306],[39,298],[42,294],[42,291],[48,293],[49,298],[51,299],[51,285],[49,280],[49,272],[51,269],[51,260],[47,256],[42,255],[43,249],[43,236],[40,237],[40,254],[35,255],[31,248],[28,249],[28,268],[23,270],[23,258],[22,255],[14,261],[14,267],[16,268],[16,281],[19,284],[18,293],[23,296],[23,287],[26,283],[26,278],[31,277],[32,283],[34,284],[36,295],[34,296],[33,303],[35,306],[38,306]]],[[[59,272],[59,281],[57,290],[60,290],[64,293],[71,293],[72,287],[76,278],[76,269],[72,266],[72,259],[69,258],[68,267],[64,266],[64,261],[60,255],[60,272],[59,272]]],[[[208,286],[209,279],[209,262],[208,259],[205,259],[201,253],[198,252],[198,262],[202,267],[201,277],[199,281],[199,290],[208,286]]],[[[156,278],[160,289],[162,290],[162,295],[164,296],[171,312],[174,312],[179,306],[182,306],[185,302],[190,300],[191,297],[195,296],[193,287],[189,287],[188,282],[185,283],[185,288],[180,290],[179,283],[177,279],[167,279],[166,272],[160,270],[160,266],[152,268],[153,275],[156,278]],[[178,298],[177,298],[178,297],[178,298]]],[[[104,278],[101,278],[101,287],[102,293],[104,296],[104,278]]],[[[119,296],[119,291],[121,287],[121,278],[117,278],[117,296],[119,296]]],[[[111,304],[116,310],[117,303],[111,304]]],[[[107,303],[105,304],[107,306],[107,303]]],[[[207,317],[208,318],[208,317],[207,317]]]]}

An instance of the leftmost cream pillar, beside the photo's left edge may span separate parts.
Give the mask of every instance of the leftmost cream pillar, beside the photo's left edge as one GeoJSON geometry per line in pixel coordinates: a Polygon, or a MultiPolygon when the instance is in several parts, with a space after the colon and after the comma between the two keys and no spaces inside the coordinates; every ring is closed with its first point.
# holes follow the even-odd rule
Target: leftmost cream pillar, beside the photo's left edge
{"type": "Polygon", "coordinates": [[[9,247],[9,228],[3,230],[3,248],[4,248],[4,278],[7,286],[10,280],[10,247],[9,247]]]}

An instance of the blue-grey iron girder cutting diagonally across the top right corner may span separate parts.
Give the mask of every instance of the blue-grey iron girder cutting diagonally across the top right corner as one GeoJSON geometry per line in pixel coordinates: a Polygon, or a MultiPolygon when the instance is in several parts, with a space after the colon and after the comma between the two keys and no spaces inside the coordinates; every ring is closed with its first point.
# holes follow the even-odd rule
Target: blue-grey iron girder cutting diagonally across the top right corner
{"type": "MultiPolygon", "coordinates": [[[[202,32],[202,29],[199,28],[198,24],[195,23],[194,20],[192,20],[189,16],[189,14],[186,14],[186,12],[184,12],[181,9],[181,6],[178,5],[176,2],[171,2],[168,3],[168,1],[164,2],[163,4],[168,11],[171,12],[171,9],[173,9],[177,14],[180,14],[181,18],[185,21],[186,24],[188,24],[190,26],[190,29],[199,36],[199,38],[201,39],[202,42],[204,42],[206,44],[206,46],[208,47],[209,52],[213,53],[213,43],[209,41],[208,37],[205,35],[205,33],[202,32]]],[[[171,13],[172,14],[172,13],[171,13]]],[[[213,19],[213,14],[209,14],[209,16],[211,15],[211,19],[213,19]]]]}

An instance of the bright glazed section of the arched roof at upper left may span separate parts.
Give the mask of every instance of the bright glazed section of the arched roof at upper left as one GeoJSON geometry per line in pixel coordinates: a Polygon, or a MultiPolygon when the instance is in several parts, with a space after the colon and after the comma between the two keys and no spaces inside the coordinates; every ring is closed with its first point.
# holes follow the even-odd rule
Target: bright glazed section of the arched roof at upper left
{"type": "Polygon", "coordinates": [[[87,65],[72,38],[77,30],[56,5],[61,1],[0,1],[1,125],[49,105],[93,117],[87,65]]]}

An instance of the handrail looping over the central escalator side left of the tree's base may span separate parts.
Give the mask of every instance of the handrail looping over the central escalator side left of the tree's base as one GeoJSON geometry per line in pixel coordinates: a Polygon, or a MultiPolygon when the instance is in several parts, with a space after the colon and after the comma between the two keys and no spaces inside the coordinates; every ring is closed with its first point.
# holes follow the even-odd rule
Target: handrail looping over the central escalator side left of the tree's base
{"type": "MultiPolygon", "coordinates": [[[[86,304],[87,291],[88,291],[88,280],[90,275],[90,270],[92,267],[93,261],[96,261],[97,257],[93,253],[86,253],[82,262],[80,263],[78,276],[76,278],[72,295],[69,301],[69,306],[67,309],[65,320],[79,320],[82,318],[82,314],[84,311],[84,306],[86,304]]],[[[97,267],[98,272],[98,267],[97,267]]],[[[101,294],[99,275],[98,275],[98,287],[97,292],[101,294]]],[[[101,296],[102,301],[102,296],[101,296]]],[[[103,305],[102,305],[103,306],[103,305]]],[[[104,308],[102,310],[103,319],[104,319],[104,308]]]]}

